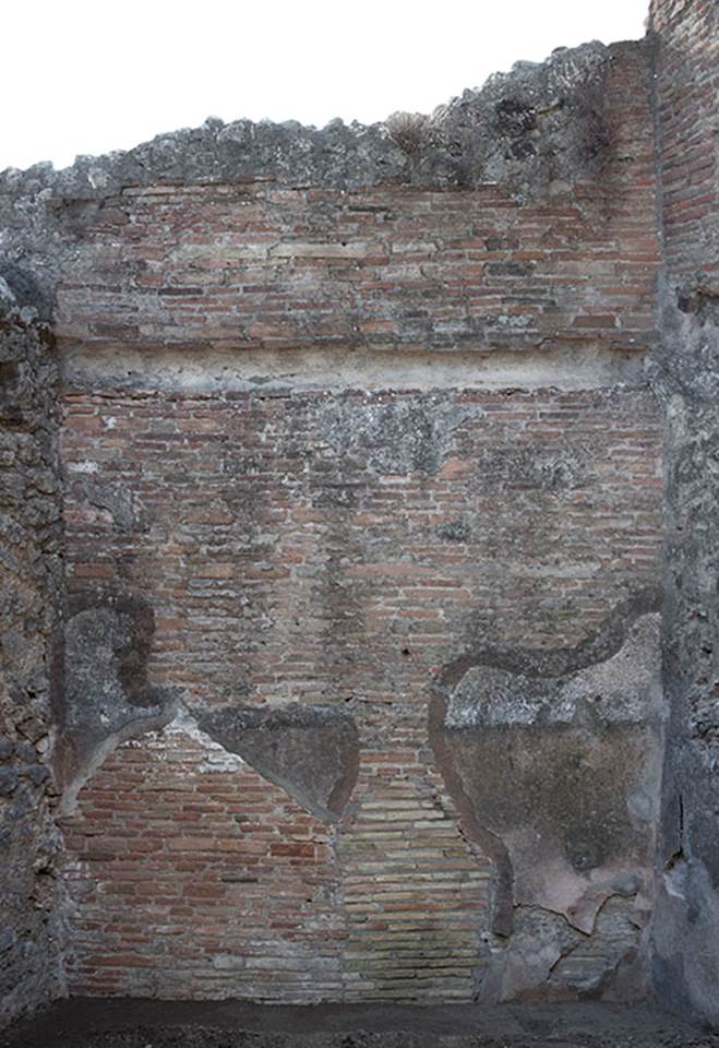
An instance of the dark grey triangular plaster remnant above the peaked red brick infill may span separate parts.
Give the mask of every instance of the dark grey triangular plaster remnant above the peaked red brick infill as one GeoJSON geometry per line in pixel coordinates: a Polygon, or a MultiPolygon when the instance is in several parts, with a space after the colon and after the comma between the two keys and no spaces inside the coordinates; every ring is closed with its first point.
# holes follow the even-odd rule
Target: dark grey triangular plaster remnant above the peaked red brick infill
{"type": "Polygon", "coordinates": [[[286,789],[321,819],[337,820],[359,770],[352,717],[334,706],[291,703],[194,710],[199,727],[286,789]]]}

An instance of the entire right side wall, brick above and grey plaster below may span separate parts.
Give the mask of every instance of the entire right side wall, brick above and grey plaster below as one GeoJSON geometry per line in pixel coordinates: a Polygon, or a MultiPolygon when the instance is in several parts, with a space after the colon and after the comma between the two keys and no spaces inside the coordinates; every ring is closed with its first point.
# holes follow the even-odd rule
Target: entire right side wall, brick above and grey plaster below
{"type": "Polygon", "coordinates": [[[662,998],[719,1019],[719,12],[656,0],[664,270],[656,386],[667,412],[664,769],[655,975],[662,998]]]}

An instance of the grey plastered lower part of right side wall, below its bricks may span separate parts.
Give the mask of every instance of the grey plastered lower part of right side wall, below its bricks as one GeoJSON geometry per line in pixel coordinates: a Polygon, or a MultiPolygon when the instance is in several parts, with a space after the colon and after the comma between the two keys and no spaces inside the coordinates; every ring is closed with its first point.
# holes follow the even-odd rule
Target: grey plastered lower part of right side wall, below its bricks
{"type": "MultiPolygon", "coordinates": [[[[687,307],[688,308],[688,307],[687,307]]],[[[699,307],[696,307],[697,310],[699,307]]],[[[666,397],[663,646],[669,710],[652,972],[662,999],[719,1022],[719,327],[682,313],[657,377],[666,397]]]]}

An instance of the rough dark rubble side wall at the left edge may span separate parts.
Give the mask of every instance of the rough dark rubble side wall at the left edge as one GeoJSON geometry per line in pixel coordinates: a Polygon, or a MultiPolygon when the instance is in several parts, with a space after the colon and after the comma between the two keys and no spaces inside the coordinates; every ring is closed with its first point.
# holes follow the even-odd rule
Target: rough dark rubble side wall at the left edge
{"type": "Polygon", "coordinates": [[[61,582],[57,381],[47,326],[0,279],[0,1026],[63,986],[47,765],[61,582]]]}

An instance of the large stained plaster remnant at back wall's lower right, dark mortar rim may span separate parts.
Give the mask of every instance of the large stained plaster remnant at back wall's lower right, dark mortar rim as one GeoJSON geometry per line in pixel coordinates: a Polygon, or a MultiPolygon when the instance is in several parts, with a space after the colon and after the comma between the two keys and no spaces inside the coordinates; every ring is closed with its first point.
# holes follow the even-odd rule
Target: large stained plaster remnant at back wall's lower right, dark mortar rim
{"type": "MultiPolygon", "coordinates": [[[[563,933],[543,936],[527,960],[539,948],[519,948],[518,914],[560,919],[575,942],[619,896],[632,928],[646,925],[663,723],[658,600],[639,594],[577,648],[468,652],[440,678],[434,753],[466,832],[495,864],[492,927],[505,946],[490,997],[536,987],[527,965],[549,973],[565,956],[563,933]],[[512,974],[516,964],[524,974],[512,974]]],[[[625,937],[627,956],[638,934],[625,937]]],[[[598,991],[606,981],[597,977],[598,991]]]]}

